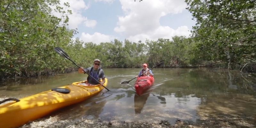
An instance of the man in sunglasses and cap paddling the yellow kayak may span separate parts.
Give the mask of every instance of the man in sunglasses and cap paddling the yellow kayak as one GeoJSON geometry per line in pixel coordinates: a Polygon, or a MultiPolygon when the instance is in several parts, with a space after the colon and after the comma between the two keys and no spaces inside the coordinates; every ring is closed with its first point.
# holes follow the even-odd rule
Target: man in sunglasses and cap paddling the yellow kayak
{"type": "Polygon", "coordinates": [[[78,72],[85,74],[83,69],[88,74],[90,74],[92,77],[94,77],[96,80],[98,80],[98,82],[95,79],[93,79],[91,76],[88,75],[87,83],[80,83],[81,85],[91,86],[91,85],[97,85],[99,83],[101,85],[103,85],[105,83],[105,74],[104,74],[104,71],[100,68],[100,60],[99,59],[94,60],[93,67],[89,67],[89,68],[80,67],[78,69],[78,72]],[[102,82],[99,82],[100,78],[102,79],[102,82]]]}

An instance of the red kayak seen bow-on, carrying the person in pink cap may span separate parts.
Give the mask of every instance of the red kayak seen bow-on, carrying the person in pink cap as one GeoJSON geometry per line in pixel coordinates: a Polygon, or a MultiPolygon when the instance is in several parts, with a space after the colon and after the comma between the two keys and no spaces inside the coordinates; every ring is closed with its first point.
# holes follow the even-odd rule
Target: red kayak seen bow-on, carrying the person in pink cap
{"type": "Polygon", "coordinates": [[[153,76],[141,76],[137,79],[134,84],[135,90],[138,95],[143,94],[146,90],[148,90],[155,82],[153,76]]]}

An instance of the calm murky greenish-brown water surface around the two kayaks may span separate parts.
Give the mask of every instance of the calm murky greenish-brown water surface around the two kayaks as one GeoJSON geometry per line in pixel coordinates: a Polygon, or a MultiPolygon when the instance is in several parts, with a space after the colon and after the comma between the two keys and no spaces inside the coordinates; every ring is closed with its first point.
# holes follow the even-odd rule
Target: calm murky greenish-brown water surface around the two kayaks
{"type": "MultiPolygon", "coordinates": [[[[58,120],[101,118],[118,121],[176,119],[195,121],[214,115],[256,113],[256,74],[210,68],[154,68],[155,84],[142,96],[135,94],[131,80],[139,68],[104,69],[107,88],[84,102],[52,113],[58,120]]],[[[0,100],[22,98],[65,84],[85,80],[87,75],[70,73],[40,78],[7,80],[0,84],[0,100]]]]}

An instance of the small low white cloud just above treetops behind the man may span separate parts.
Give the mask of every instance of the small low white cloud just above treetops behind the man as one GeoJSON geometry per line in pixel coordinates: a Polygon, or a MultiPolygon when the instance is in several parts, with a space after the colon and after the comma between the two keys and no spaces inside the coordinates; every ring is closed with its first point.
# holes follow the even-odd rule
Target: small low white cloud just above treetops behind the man
{"type": "Polygon", "coordinates": [[[100,44],[101,42],[110,42],[115,39],[113,36],[104,35],[98,32],[95,32],[93,35],[83,32],[80,38],[84,42],[92,42],[95,44],[100,44]]]}

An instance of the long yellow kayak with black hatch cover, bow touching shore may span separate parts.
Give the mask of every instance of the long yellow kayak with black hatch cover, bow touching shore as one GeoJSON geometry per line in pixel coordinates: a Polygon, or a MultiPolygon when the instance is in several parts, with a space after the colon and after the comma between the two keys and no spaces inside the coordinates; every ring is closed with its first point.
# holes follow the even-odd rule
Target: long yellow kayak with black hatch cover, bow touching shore
{"type": "MultiPolygon", "coordinates": [[[[75,82],[49,91],[0,105],[0,128],[18,127],[51,112],[86,100],[104,89],[100,84],[94,86],[78,85],[86,81],[75,82]]],[[[105,78],[104,86],[108,84],[105,78]]]]}

